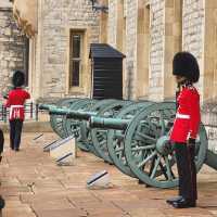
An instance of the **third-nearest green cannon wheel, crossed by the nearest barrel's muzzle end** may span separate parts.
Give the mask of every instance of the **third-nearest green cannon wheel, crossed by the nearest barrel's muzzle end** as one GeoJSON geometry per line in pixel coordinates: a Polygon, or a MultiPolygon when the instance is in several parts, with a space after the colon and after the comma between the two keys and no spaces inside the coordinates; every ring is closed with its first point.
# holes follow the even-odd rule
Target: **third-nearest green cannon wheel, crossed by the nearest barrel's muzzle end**
{"type": "MultiPolygon", "coordinates": [[[[106,107],[103,107],[98,112],[99,117],[116,117],[117,114],[124,110],[125,107],[129,106],[132,102],[130,101],[117,101],[114,103],[111,103],[106,107]]],[[[110,146],[108,140],[107,140],[107,129],[101,129],[101,128],[93,128],[91,131],[91,138],[93,142],[93,146],[95,149],[95,152],[98,155],[103,158],[105,162],[108,162],[110,164],[113,164],[112,158],[108,155],[107,146],[110,146]]]]}

